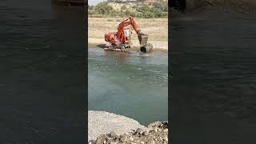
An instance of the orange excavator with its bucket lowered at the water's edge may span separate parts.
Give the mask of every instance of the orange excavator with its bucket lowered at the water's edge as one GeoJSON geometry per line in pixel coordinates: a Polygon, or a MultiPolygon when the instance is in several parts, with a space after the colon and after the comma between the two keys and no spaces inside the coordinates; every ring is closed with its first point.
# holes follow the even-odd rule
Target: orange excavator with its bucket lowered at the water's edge
{"type": "Polygon", "coordinates": [[[138,29],[137,23],[134,21],[134,18],[129,17],[123,20],[118,26],[118,32],[108,32],[105,34],[105,41],[109,42],[109,45],[106,45],[105,50],[124,50],[130,48],[130,31],[127,29],[127,26],[132,26],[138,35],[138,41],[140,44],[140,50],[142,52],[147,52],[153,49],[152,44],[147,43],[148,36],[143,34],[141,30],[138,29]]]}

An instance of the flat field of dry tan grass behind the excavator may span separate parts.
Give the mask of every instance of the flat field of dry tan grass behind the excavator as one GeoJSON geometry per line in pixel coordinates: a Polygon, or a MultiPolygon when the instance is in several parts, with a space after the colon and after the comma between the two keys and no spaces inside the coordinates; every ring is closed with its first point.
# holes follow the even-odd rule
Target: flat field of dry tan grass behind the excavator
{"type": "MultiPolygon", "coordinates": [[[[99,38],[104,41],[104,34],[109,31],[116,32],[118,24],[123,18],[89,18],[89,38],[99,38]]],[[[167,18],[135,18],[138,27],[144,34],[149,35],[149,41],[168,41],[167,18]]],[[[132,34],[132,39],[138,39],[137,34],[132,34]]]]}

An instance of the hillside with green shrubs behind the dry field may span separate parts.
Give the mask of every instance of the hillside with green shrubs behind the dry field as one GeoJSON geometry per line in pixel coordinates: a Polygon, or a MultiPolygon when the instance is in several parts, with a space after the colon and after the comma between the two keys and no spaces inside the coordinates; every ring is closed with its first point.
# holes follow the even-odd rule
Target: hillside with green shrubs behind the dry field
{"type": "MultiPolygon", "coordinates": [[[[137,17],[137,18],[167,18],[168,16],[168,3],[167,1],[155,1],[150,5],[130,7],[127,2],[120,7],[120,10],[114,9],[107,2],[100,2],[96,6],[88,7],[89,17],[137,17]]],[[[114,1],[117,2],[117,1],[114,1]]],[[[122,1],[120,1],[122,2],[122,1]]],[[[142,1],[138,1],[142,2],[142,1]]]]}

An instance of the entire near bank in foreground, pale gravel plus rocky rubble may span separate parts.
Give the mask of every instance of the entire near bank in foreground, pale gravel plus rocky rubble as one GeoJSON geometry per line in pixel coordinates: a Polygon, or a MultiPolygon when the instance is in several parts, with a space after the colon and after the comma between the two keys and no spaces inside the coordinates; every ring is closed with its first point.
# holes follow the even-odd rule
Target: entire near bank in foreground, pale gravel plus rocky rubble
{"type": "Polygon", "coordinates": [[[132,118],[105,111],[89,110],[88,142],[162,142],[168,143],[168,123],[153,122],[142,126],[132,118]]]}

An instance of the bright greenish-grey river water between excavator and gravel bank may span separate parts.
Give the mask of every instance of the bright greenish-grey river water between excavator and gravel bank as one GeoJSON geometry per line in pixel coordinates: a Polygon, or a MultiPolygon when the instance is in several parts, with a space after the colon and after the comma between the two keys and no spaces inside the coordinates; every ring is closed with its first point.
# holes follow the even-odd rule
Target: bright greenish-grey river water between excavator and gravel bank
{"type": "Polygon", "coordinates": [[[134,118],[143,125],[167,120],[167,54],[89,49],[89,110],[134,118]]]}

